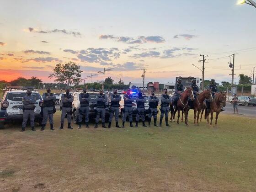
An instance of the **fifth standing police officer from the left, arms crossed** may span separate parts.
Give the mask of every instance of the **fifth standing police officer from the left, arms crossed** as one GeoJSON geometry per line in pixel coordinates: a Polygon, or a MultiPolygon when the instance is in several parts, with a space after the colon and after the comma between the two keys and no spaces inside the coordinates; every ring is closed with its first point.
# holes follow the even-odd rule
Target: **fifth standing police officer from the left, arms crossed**
{"type": "Polygon", "coordinates": [[[102,90],[100,91],[100,94],[96,96],[96,102],[97,102],[97,116],[96,116],[96,124],[94,128],[98,128],[99,118],[101,116],[101,122],[102,122],[102,128],[107,128],[105,125],[105,113],[106,113],[106,102],[107,102],[107,96],[103,94],[102,90]]]}

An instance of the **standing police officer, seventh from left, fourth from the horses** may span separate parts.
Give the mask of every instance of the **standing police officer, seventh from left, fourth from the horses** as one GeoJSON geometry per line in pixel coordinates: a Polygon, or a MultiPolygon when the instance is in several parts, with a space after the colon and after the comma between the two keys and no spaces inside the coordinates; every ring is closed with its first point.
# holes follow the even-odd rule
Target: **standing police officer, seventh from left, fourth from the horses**
{"type": "Polygon", "coordinates": [[[129,116],[129,122],[130,127],[133,128],[133,102],[134,98],[131,94],[131,90],[127,90],[127,93],[123,95],[124,100],[124,107],[123,107],[123,125],[122,128],[124,128],[124,123],[126,121],[127,115],[129,116]]]}

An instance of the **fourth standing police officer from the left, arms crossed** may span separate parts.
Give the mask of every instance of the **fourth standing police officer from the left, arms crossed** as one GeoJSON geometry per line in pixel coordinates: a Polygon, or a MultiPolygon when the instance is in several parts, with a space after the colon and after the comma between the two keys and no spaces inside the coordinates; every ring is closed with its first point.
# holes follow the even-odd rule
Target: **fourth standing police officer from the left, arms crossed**
{"type": "Polygon", "coordinates": [[[85,117],[86,128],[89,128],[89,102],[91,101],[91,96],[89,93],[86,93],[86,89],[83,89],[83,92],[79,94],[80,109],[79,109],[79,118],[78,118],[78,128],[81,128],[81,123],[83,117],[85,117]]]}

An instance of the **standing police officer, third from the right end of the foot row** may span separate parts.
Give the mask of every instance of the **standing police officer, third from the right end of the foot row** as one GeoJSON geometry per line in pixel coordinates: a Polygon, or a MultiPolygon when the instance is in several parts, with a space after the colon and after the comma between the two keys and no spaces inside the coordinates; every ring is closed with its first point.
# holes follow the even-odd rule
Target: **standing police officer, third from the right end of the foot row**
{"type": "Polygon", "coordinates": [[[146,102],[146,98],[142,95],[141,91],[139,91],[138,97],[136,98],[136,103],[137,103],[137,115],[136,115],[136,125],[135,125],[136,128],[138,127],[139,117],[141,117],[142,126],[147,127],[145,125],[145,115],[144,115],[145,102],[146,102]]]}

